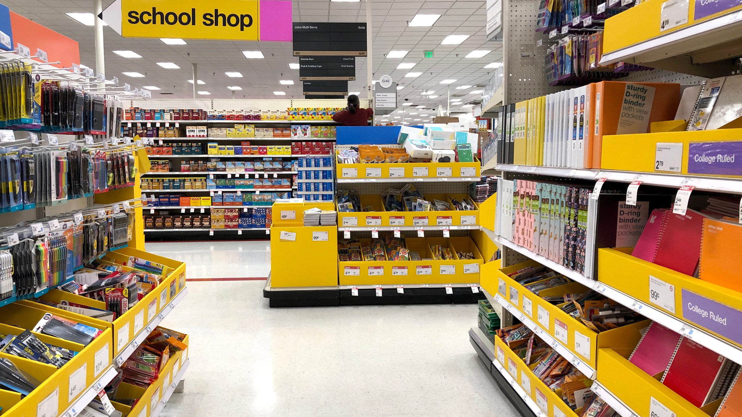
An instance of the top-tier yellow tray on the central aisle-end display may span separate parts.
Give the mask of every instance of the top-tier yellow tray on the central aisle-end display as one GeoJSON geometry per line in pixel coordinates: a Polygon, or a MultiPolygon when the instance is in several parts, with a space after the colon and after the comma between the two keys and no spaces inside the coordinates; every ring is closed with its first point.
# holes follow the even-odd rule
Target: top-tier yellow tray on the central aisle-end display
{"type": "MultiPolygon", "coordinates": [[[[335,151],[339,154],[340,151],[335,151]]],[[[337,178],[447,178],[479,177],[482,162],[393,162],[337,164],[337,178]],[[391,168],[391,171],[390,171],[391,168]]]]}

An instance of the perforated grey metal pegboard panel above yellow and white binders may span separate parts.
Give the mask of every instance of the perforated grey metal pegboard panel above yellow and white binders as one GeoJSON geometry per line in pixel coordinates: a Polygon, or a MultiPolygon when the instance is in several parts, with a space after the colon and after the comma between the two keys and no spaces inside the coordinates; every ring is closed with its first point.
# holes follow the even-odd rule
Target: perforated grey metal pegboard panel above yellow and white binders
{"type": "Polygon", "coordinates": [[[539,0],[510,0],[505,6],[504,102],[514,103],[556,93],[565,88],[550,87],[546,82],[544,61],[547,37],[536,32],[539,0]],[[541,46],[536,43],[541,40],[541,46]]]}

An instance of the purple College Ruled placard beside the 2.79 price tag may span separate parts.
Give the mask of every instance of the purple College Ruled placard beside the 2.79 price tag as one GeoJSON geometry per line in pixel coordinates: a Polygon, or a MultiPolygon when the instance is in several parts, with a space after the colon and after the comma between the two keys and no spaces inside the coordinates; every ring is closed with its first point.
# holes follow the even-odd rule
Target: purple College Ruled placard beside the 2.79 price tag
{"type": "Polygon", "coordinates": [[[742,175],[742,142],[691,142],[688,174],[742,175]]]}

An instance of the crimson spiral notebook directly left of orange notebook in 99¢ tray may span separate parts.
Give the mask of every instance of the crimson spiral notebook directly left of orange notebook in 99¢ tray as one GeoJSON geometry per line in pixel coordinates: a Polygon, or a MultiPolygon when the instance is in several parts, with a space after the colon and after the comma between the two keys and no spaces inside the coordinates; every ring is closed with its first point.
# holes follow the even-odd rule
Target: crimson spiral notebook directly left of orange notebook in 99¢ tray
{"type": "Polygon", "coordinates": [[[671,211],[660,230],[654,263],[681,274],[694,275],[700,257],[704,218],[706,216],[691,209],[688,209],[685,215],[674,214],[671,211]]]}

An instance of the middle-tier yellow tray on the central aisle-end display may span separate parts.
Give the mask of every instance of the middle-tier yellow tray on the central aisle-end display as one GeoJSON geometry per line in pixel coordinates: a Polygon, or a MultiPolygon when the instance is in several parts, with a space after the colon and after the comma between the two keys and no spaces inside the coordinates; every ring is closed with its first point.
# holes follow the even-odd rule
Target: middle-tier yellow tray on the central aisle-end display
{"type": "MultiPolygon", "coordinates": [[[[338,208],[338,226],[476,226],[479,223],[477,210],[447,211],[385,211],[384,202],[378,195],[360,195],[361,206],[371,206],[373,211],[341,212],[338,208]]],[[[452,199],[462,200],[466,194],[424,194],[426,201],[441,200],[451,204],[452,199]]],[[[471,199],[469,199],[471,200],[471,199]]],[[[473,203],[473,201],[472,201],[473,203]]],[[[479,206],[474,203],[476,208],[479,206]]],[[[358,208],[359,210],[363,207],[358,208]]]]}

